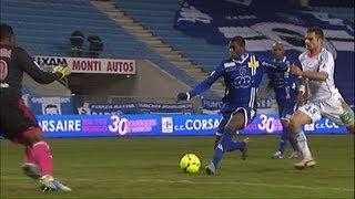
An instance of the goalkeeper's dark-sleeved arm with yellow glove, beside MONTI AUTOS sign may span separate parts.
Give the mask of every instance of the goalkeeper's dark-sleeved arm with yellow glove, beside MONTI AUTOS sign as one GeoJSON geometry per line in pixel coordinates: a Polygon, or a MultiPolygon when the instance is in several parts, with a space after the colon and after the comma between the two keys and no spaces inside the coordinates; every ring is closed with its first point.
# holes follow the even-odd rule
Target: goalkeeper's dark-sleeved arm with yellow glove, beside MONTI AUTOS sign
{"type": "Polygon", "coordinates": [[[70,71],[63,66],[54,69],[52,73],[42,71],[23,49],[18,49],[17,56],[21,69],[40,84],[52,83],[53,81],[60,80],[70,73],[70,71]]]}

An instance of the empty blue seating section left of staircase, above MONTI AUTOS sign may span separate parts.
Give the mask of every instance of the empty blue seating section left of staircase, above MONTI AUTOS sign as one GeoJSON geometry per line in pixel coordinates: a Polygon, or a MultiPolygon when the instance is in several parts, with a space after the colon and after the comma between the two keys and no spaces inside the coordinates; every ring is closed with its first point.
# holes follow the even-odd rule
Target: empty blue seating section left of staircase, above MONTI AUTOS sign
{"type": "MultiPolygon", "coordinates": [[[[7,10],[1,12],[1,20],[14,27],[18,43],[33,54],[71,55],[69,36],[73,30],[81,28],[85,32],[93,31],[100,34],[105,44],[101,57],[146,59],[185,84],[190,86],[196,84],[185,71],[168,62],[118,27],[90,1],[2,0],[1,7],[7,10]]],[[[88,49],[88,44],[84,49],[88,49]]],[[[217,97],[213,92],[207,92],[205,95],[217,97]]]]}

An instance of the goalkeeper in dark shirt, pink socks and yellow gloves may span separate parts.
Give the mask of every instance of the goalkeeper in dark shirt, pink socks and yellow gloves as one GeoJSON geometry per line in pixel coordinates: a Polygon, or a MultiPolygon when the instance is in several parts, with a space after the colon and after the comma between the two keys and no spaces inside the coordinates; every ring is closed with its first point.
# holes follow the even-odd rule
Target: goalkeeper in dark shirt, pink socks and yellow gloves
{"type": "Polygon", "coordinates": [[[31,109],[21,98],[23,72],[40,84],[49,84],[70,74],[69,67],[58,66],[43,72],[22,48],[16,46],[13,30],[1,23],[0,34],[0,112],[1,135],[24,146],[24,174],[38,180],[42,191],[70,191],[52,177],[53,157],[31,109]]]}

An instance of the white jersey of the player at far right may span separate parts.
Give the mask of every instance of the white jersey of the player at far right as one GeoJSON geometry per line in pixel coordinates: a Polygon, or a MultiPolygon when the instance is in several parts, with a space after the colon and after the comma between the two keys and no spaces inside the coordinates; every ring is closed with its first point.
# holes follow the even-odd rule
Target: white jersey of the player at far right
{"type": "Polygon", "coordinates": [[[334,57],[329,51],[322,48],[321,53],[313,57],[310,57],[306,51],[300,54],[298,60],[303,71],[324,72],[328,74],[328,77],[324,82],[308,81],[310,101],[327,101],[333,95],[338,94],[338,90],[334,84],[334,57]]]}

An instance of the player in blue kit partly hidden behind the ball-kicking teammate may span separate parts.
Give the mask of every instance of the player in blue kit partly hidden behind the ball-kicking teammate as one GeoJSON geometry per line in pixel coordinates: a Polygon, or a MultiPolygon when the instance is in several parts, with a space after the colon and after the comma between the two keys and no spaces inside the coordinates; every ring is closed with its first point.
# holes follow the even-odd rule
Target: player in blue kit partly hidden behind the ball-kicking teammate
{"type": "MultiPolygon", "coordinates": [[[[296,61],[292,60],[288,56],[285,56],[285,48],[281,42],[276,42],[273,44],[272,53],[274,56],[274,61],[286,62],[287,65],[294,64],[296,61]]],[[[300,65],[300,64],[297,64],[300,65]]],[[[297,142],[293,138],[293,136],[288,132],[288,122],[292,114],[297,108],[296,96],[298,94],[297,88],[297,76],[288,74],[287,72],[277,72],[277,71],[268,71],[267,76],[270,82],[267,87],[263,94],[261,94],[262,98],[266,96],[268,91],[272,88],[275,92],[276,103],[278,107],[278,116],[281,119],[281,124],[283,127],[283,132],[281,135],[278,149],[272,156],[274,159],[281,159],[284,156],[285,147],[287,142],[290,142],[293,153],[290,158],[297,158],[301,154],[297,149],[297,142]]]]}

